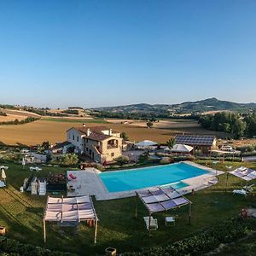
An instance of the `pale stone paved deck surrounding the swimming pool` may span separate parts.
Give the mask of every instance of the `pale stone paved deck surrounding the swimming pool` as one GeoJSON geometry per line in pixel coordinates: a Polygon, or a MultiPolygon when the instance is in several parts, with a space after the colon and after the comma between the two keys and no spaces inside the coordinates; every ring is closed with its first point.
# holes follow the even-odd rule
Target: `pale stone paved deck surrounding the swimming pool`
{"type": "MultiPolygon", "coordinates": [[[[201,166],[190,161],[183,161],[190,166],[195,166],[201,168],[202,170],[207,171],[208,173],[197,176],[190,177],[187,179],[181,180],[183,183],[189,184],[189,186],[177,189],[181,194],[186,195],[192,192],[192,190],[206,189],[216,183],[218,183],[218,178],[216,176],[223,174],[207,166],[201,166]]],[[[113,171],[114,172],[114,171],[113,171]]],[[[83,171],[67,171],[67,177],[70,173],[73,173],[73,176],[76,177],[74,180],[69,180],[67,186],[73,186],[74,191],[68,191],[67,196],[80,196],[80,195],[95,195],[97,201],[119,199],[125,197],[131,197],[136,195],[136,191],[151,189],[143,188],[137,190],[128,190],[121,192],[108,192],[108,189],[105,187],[102,179],[98,176],[100,171],[95,168],[86,168],[83,171]]],[[[165,187],[165,186],[162,186],[165,187]]]]}

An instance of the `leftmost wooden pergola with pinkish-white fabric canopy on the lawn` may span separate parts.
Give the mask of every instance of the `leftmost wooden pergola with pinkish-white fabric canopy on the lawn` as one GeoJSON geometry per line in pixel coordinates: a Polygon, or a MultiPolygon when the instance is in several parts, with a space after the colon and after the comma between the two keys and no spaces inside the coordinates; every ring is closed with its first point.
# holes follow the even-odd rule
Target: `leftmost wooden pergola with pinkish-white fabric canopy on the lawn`
{"type": "Polygon", "coordinates": [[[44,242],[46,242],[46,221],[48,222],[81,222],[94,221],[96,243],[98,218],[89,195],[69,198],[49,197],[44,212],[44,242]]]}

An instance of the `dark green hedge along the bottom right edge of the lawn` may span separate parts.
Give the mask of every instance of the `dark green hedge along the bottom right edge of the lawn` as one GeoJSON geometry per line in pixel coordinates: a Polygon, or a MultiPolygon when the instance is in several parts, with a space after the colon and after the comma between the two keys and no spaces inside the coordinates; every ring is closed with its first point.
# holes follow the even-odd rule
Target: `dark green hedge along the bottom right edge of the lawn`
{"type": "Polygon", "coordinates": [[[149,247],[140,253],[123,253],[122,256],[197,256],[212,251],[221,243],[236,241],[246,236],[248,231],[243,219],[234,218],[195,236],[168,244],[166,247],[149,247]]]}

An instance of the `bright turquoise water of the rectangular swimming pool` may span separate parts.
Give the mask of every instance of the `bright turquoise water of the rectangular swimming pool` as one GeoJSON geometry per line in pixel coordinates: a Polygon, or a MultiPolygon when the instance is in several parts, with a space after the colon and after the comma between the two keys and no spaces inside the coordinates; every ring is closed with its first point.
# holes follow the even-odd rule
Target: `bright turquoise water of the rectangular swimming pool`
{"type": "Polygon", "coordinates": [[[143,189],[154,186],[172,184],[181,189],[188,184],[181,180],[206,174],[201,168],[185,163],[166,166],[152,166],[133,170],[102,172],[99,176],[109,192],[143,189]]]}

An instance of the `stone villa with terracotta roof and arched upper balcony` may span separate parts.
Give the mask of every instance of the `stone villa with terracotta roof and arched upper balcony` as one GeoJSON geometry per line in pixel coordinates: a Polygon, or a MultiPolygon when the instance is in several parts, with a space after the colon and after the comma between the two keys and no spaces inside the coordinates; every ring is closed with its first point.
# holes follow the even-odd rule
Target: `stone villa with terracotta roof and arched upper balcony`
{"type": "Polygon", "coordinates": [[[67,142],[73,143],[77,152],[99,163],[113,161],[122,155],[123,139],[119,131],[106,126],[72,127],[67,130],[67,142]]]}

